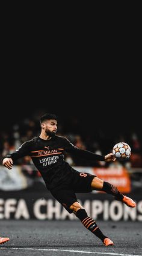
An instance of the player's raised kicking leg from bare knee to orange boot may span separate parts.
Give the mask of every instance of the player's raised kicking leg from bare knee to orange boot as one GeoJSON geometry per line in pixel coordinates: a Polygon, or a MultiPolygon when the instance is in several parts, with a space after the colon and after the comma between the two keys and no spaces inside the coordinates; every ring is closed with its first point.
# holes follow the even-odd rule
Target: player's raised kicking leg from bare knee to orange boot
{"type": "Polygon", "coordinates": [[[103,182],[103,180],[100,180],[97,177],[94,177],[94,179],[92,180],[91,188],[93,190],[104,191],[108,194],[114,195],[117,200],[122,201],[123,203],[125,203],[125,205],[129,207],[136,206],[136,203],[129,197],[126,197],[126,195],[121,194],[116,186],[110,184],[109,182],[103,182]]]}

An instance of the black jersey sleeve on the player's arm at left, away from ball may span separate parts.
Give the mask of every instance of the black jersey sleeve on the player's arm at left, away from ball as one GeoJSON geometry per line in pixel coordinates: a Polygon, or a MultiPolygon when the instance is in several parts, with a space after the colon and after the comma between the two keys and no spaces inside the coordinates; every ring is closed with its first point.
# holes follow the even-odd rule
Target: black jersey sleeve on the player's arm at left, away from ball
{"type": "Polygon", "coordinates": [[[11,154],[7,154],[7,156],[5,157],[11,158],[13,160],[17,160],[20,157],[29,156],[29,144],[30,144],[29,141],[24,142],[21,146],[19,146],[18,149],[16,149],[16,151],[14,151],[11,154]]]}

